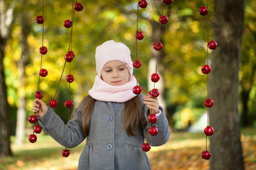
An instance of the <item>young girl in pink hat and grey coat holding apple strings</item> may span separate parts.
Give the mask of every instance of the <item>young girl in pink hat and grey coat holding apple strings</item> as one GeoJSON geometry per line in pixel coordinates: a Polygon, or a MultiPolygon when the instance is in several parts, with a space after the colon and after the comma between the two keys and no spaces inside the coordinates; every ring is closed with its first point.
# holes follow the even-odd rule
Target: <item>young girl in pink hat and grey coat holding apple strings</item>
{"type": "Polygon", "coordinates": [[[67,125],[38,98],[33,113],[43,129],[64,147],[76,147],[87,138],[78,169],[151,169],[142,144],[147,136],[151,146],[164,145],[169,139],[163,108],[153,96],[133,94],[137,80],[132,76],[126,45],[113,40],[104,42],[97,47],[95,60],[97,76],[92,89],[67,125]],[[149,110],[157,116],[156,136],[148,135],[149,110]]]}

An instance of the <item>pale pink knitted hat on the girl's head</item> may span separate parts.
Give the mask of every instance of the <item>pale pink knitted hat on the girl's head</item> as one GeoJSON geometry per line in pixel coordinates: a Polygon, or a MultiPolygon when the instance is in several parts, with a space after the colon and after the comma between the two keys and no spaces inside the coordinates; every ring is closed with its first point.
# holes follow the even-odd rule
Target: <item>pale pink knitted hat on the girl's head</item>
{"type": "Polygon", "coordinates": [[[112,60],[123,62],[129,69],[129,73],[132,76],[133,66],[131,52],[129,48],[122,42],[114,42],[114,40],[108,40],[102,45],[99,45],[96,48],[95,60],[96,71],[99,77],[101,77],[102,68],[105,66],[105,64],[112,60]]]}

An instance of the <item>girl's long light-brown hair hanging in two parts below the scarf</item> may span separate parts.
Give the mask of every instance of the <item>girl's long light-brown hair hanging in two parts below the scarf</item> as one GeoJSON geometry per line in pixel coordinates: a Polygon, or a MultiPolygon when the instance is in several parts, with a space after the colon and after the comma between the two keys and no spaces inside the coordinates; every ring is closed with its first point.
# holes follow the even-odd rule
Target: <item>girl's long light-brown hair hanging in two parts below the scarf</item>
{"type": "MultiPolygon", "coordinates": [[[[89,135],[90,118],[92,117],[92,111],[95,106],[95,99],[90,95],[85,96],[80,102],[78,108],[82,107],[82,132],[87,137],[89,135]]],[[[142,118],[142,106],[139,96],[135,96],[131,100],[124,103],[124,121],[127,135],[136,135],[135,130],[141,123],[142,118]]]]}

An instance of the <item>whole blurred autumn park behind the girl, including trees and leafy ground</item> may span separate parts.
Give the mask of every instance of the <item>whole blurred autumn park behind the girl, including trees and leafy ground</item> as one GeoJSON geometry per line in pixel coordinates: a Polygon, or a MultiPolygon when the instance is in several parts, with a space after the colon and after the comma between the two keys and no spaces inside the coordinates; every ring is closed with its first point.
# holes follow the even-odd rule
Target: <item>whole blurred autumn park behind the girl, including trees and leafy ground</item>
{"type": "MultiPolygon", "coordinates": [[[[84,9],[75,12],[73,25],[71,98],[78,106],[92,87],[95,72],[95,48],[106,40],[124,42],[134,60],[137,1],[78,1],[84,9]]],[[[151,89],[149,72],[154,67],[156,51],[153,44],[159,33],[162,1],[149,0],[139,9],[139,30],[145,38],[138,42],[139,84],[151,89]],[[150,64],[153,63],[151,66],[150,64]]],[[[70,29],[63,21],[70,19],[71,0],[45,1],[43,68],[48,76],[41,78],[43,99],[53,98],[68,51],[70,29]]],[[[203,101],[207,98],[207,76],[201,73],[206,63],[207,18],[198,8],[206,0],[174,1],[164,6],[169,23],[161,26],[163,49],[159,57],[162,105],[169,119],[171,138],[163,147],[149,152],[152,169],[256,169],[256,2],[208,1],[209,38],[218,47],[209,51],[210,97],[215,104],[210,108],[210,125],[215,134],[208,137],[210,161],[201,159],[206,149],[203,125],[198,120],[207,112],[203,101]],[[196,124],[197,123],[197,124],[196,124]],[[188,132],[198,125],[199,132],[188,132]],[[202,128],[203,127],[203,128],[202,128]]],[[[42,15],[42,1],[0,0],[0,169],[77,169],[82,145],[71,149],[70,157],[63,158],[64,149],[42,133],[34,144],[28,142],[33,125],[27,118],[35,92],[41,55],[42,26],[35,22],[42,15]]],[[[64,75],[68,74],[69,65],[64,75]]],[[[68,83],[63,76],[56,96],[55,111],[65,122],[68,110],[68,83]]]]}

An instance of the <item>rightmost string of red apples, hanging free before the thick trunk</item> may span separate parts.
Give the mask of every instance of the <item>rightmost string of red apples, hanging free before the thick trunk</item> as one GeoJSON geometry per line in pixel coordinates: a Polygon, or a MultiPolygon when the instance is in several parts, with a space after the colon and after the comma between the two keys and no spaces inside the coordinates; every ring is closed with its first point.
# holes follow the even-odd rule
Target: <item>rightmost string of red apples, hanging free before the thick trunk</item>
{"type": "Polygon", "coordinates": [[[203,151],[201,154],[203,159],[208,160],[210,159],[210,152],[207,149],[207,138],[208,136],[213,135],[213,132],[214,132],[213,127],[209,125],[209,108],[213,106],[213,99],[209,98],[209,73],[211,68],[208,64],[208,49],[215,50],[215,48],[217,47],[217,42],[215,42],[214,40],[210,40],[209,42],[208,0],[206,0],[206,6],[201,6],[198,11],[201,16],[207,16],[207,42],[208,42],[206,47],[207,58],[206,58],[206,64],[203,65],[203,67],[201,68],[201,71],[203,72],[203,74],[207,74],[207,98],[204,101],[204,105],[207,108],[207,127],[204,129],[204,132],[206,134],[206,150],[203,151]]]}

